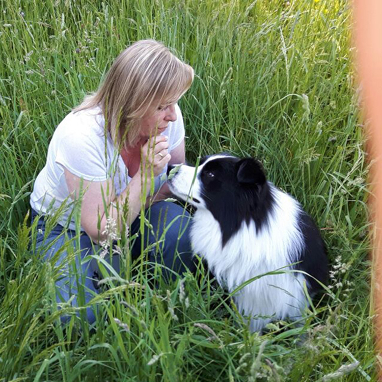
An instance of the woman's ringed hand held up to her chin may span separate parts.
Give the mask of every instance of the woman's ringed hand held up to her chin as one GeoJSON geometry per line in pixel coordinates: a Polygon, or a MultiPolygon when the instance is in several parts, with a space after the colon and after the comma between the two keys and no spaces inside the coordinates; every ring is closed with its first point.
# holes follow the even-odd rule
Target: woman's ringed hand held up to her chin
{"type": "Polygon", "coordinates": [[[151,176],[151,169],[154,177],[162,172],[171,159],[168,148],[169,142],[166,135],[156,135],[142,146],[141,158],[146,176],[151,176]]]}

